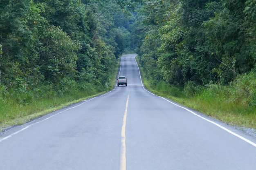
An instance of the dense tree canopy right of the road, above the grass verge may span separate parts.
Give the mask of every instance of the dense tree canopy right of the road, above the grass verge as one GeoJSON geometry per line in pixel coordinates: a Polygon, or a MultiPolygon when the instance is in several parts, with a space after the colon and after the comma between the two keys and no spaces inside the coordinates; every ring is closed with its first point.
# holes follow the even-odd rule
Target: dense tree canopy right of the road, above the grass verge
{"type": "Polygon", "coordinates": [[[132,37],[153,81],[227,84],[255,70],[255,11],[253,0],[149,0],[132,37]]]}

